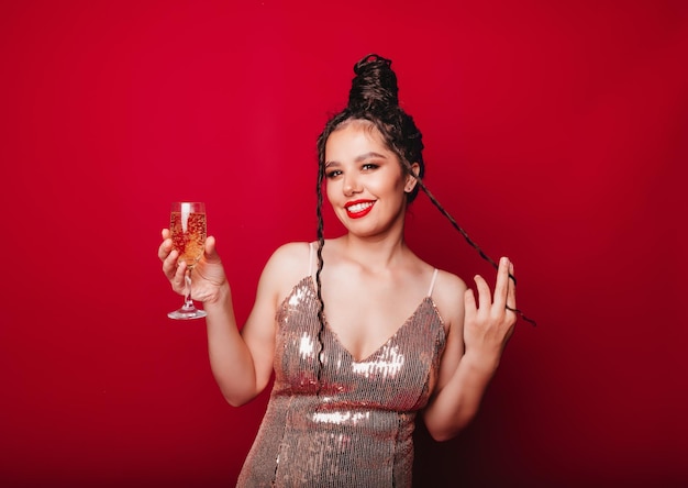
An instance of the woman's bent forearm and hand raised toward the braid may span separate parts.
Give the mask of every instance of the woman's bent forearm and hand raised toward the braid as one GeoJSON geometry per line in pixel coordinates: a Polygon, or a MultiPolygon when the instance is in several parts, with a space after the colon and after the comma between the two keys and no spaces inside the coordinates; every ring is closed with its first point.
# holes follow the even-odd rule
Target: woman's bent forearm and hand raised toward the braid
{"type": "MultiPolygon", "coordinates": [[[[485,279],[476,276],[478,304],[473,290],[462,284],[463,300],[454,298],[453,304],[445,307],[451,317],[450,334],[437,387],[423,415],[437,441],[454,437],[473,420],[499,366],[515,323],[515,314],[506,309],[507,303],[515,308],[515,290],[509,280],[512,269],[508,259],[500,260],[493,300],[485,279]]],[[[453,288],[456,292],[462,286],[453,288]]]]}

